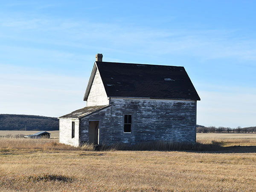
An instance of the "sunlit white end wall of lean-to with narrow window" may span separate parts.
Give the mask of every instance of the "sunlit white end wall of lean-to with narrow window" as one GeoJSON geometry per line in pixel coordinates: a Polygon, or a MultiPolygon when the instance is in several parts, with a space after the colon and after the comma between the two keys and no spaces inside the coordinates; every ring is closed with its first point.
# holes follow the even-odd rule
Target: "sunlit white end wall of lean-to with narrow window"
{"type": "Polygon", "coordinates": [[[79,146],[79,119],[59,119],[60,143],[79,146]],[[75,121],[75,137],[72,137],[72,121],[75,121]]]}

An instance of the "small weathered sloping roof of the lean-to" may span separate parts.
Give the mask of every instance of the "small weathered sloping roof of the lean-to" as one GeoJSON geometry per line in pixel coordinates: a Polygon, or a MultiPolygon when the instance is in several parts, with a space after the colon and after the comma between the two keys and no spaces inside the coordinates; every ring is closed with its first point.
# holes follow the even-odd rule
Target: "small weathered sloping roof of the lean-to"
{"type": "Polygon", "coordinates": [[[61,118],[80,119],[84,116],[90,115],[91,113],[94,113],[96,111],[100,111],[100,110],[105,109],[109,106],[110,105],[99,105],[99,106],[89,106],[89,107],[81,108],[81,109],[73,111],[73,112],[71,112],[67,115],[61,116],[61,117],[59,117],[59,119],[61,119],[61,118]]]}

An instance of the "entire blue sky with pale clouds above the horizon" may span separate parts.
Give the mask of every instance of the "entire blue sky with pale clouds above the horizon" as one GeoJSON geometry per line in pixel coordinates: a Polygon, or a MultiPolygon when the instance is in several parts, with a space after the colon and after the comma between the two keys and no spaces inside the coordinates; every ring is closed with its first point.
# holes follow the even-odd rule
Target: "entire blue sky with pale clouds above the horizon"
{"type": "Polygon", "coordinates": [[[86,105],[103,61],[184,66],[197,122],[256,126],[255,1],[0,0],[0,113],[61,116],[86,105]]]}

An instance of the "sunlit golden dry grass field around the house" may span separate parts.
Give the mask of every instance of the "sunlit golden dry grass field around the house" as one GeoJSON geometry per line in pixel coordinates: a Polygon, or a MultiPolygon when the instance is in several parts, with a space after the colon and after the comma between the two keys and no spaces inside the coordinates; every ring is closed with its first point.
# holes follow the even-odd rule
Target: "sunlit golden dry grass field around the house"
{"type": "Polygon", "coordinates": [[[198,143],[219,147],[93,151],[91,146],[74,148],[57,139],[1,137],[0,191],[256,190],[256,138],[204,137],[198,143]]]}

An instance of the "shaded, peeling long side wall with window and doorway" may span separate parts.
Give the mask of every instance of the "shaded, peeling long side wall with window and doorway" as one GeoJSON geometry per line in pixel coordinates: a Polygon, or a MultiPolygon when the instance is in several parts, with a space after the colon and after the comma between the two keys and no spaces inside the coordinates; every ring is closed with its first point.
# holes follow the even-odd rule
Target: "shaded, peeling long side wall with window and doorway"
{"type": "Polygon", "coordinates": [[[80,120],[80,140],[88,140],[89,121],[99,120],[99,143],[195,142],[196,101],[113,99],[111,106],[80,120]],[[132,115],[132,133],[123,132],[132,115]]]}

